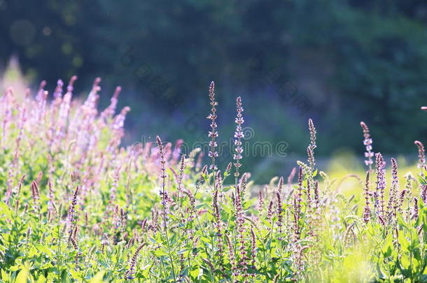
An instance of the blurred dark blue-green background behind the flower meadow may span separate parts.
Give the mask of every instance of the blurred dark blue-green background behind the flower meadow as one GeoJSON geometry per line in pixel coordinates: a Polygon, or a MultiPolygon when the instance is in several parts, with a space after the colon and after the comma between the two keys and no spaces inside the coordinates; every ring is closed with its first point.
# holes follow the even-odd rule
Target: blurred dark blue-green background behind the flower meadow
{"type": "Polygon", "coordinates": [[[309,117],[319,159],[363,156],[360,120],[374,151],[415,152],[427,133],[426,24],[421,0],[0,0],[0,68],[15,55],[32,86],[50,90],[76,74],[81,97],[100,76],[102,106],[121,85],[126,144],[204,140],[215,80],[220,140],[242,96],[248,142],[272,143],[272,156],[244,158],[260,179],[305,158],[309,117]]]}

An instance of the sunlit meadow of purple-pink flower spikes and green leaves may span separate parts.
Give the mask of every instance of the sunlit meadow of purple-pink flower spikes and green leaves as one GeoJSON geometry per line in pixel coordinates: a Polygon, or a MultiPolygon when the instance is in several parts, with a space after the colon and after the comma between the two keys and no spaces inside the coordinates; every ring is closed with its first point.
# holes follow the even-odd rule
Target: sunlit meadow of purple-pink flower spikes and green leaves
{"type": "Polygon", "coordinates": [[[422,141],[418,166],[400,168],[354,121],[365,170],[335,178],[316,164],[322,133],[308,119],[307,157],[254,184],[241,166],[244,96],[223,164],[214,82],[200,117],[209,149],[182,152],[161,136],[123,146],[120,87],[99,110],[101,80],[83,101],[76,80],[1,94],[1,282],[427,282],[422,141]]]}

